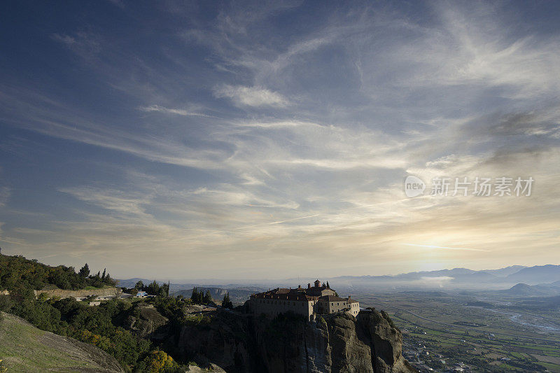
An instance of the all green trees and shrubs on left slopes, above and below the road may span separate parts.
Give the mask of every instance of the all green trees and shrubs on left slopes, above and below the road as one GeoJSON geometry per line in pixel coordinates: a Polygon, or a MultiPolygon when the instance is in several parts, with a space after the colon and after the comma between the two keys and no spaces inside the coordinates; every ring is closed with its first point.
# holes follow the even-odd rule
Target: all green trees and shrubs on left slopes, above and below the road
{"type": "MultiPolygon", "coordinates": [[[[181,367],[165,351],[123,328],[127,317],[137,316],[137,304],[109,300],[90,307],[87,302],[78,302],[74,298],[35,297],[33,290],[52,285],[78,290],[87,286],[114,286],[115,281],[106,271],[91,276],[87,265],[76,273],[73,267],[50,267],[22,256],[0,254],[0,288],[10,290],[9,295],[0,295],[0,311],[25,318],[41,330],[97,346],[115,357],[126,372],[181,371],[181,367]]],[[[144,290],[144,286],[141,288],[144,290]]],[[[146,290],[158,295],[153,302],[165,314],[172,316],[170,319],[174,323],[185,322],[179,317],[182,312],[177,300],[167,298],[167,284],[159,286],[154,282],[146,290]]]]}

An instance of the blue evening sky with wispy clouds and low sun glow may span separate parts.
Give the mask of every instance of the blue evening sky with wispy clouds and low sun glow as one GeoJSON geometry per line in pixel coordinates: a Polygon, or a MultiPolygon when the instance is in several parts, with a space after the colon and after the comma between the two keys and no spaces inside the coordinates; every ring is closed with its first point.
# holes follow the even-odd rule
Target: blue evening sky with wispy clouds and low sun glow
{"type": "Polygon", "coordinates": [[[2,253],[123,279],[560,264],[559,14],[3,1],[2,253]]]}

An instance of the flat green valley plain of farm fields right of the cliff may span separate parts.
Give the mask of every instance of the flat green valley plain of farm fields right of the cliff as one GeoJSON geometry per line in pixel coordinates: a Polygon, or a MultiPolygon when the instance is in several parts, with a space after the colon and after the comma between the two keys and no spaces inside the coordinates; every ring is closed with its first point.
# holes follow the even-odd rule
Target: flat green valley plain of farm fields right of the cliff
{"type": "Polygon", "coordinates": [[[549,300],[355,293],[363,307],[384,309],[393,318],[402,330],[403,355],[420,371],[560,372],[560,315],[548,309],[549,300]]]}

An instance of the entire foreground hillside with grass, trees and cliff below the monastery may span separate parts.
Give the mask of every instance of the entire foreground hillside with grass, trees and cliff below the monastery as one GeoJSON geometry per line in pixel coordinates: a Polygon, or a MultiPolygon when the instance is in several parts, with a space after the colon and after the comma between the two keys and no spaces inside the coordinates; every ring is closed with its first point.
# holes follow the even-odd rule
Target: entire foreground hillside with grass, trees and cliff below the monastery
{"type": "MultiPolygon", "coordinates": [[[[285,373],[414,371],[402,358],[400,331],[374,310],[360,311],[357,318],[325,315],[316,322],[290,313],[268,320],[242,306],[233,311],[169,297],[167,284],[155,282],[142,288],[157,297],[111,299],[94,307],[65,296],[116,288],[33,291],[52,281],[69,281],[74,288],[97,278],[107,279],[99,274],[92,279],[89,269],[76,273],[72,267],[0,256],[0,280],[10,290],[0,295],[0,311],[6,311],[0,358],[8,372],[122,372],[120,367],[185,372],[192,361],[204,368],[217,363],[232,373],[263,372],[263,367],[285,373]]],[[[215,296],[225,292],[213,290],[215,296]]],[[[254,291],[237,290],[228,289],[241,299],[254,291]]]]}

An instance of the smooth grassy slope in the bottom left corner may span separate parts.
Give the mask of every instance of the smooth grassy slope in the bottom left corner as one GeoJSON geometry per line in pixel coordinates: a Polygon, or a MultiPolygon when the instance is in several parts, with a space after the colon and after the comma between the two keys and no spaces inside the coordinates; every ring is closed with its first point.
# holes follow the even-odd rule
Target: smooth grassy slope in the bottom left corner
{"type": "Polygon", "coordinates": [[[1,313],[0,358],[8,372],[123,372],[117,360],[91,344],[35,328],[1,313]]]}

